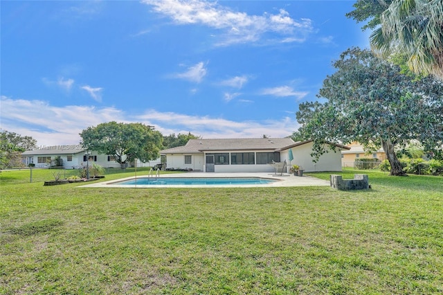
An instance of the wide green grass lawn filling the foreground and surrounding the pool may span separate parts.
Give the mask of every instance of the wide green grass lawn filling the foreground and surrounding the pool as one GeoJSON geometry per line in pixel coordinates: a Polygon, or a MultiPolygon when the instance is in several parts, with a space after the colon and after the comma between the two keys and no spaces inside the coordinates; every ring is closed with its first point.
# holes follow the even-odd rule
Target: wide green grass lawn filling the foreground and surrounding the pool
{"type": "Polygon", "coordinates": [[[372,189],[77,188],[3,171],[0,294],[442,294],[443,177],[361,172],[372,189]]]}

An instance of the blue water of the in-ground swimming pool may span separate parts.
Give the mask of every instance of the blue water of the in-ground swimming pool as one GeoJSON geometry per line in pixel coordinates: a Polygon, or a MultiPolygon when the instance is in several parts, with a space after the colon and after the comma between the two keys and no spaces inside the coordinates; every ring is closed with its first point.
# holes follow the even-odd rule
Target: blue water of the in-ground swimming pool
{"type": "Polygon", "coordinates": [[[143,186],[169,186],[169,185],[230,185],[230,184],[270,184],[275,180],[262,179],[258,177],[248,178],[137,178],[120,182],[114,182],[113,184],[122,185],[143,185],[143,186]]]}

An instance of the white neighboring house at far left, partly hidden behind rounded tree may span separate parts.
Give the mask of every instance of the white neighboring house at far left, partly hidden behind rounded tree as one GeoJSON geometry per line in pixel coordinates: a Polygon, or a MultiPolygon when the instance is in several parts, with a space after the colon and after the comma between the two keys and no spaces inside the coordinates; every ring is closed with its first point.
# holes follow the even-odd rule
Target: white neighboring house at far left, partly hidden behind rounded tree
{"type": "MultiPolygon", "coordinates": [[[[36,168],[59,166],[65,169],[78,169],[93,163],[104,168],[121,167],[114,156],[99,154],[95,151],[89,151],[87,155],[85,152],[87,150],[79,145],[53,145],[22,152],[21,159],[25,166],[34,163],[36,168]],[[87,163],[87,157],[89,163],[87,163]]],[[[160,158],[146,163],[137,161],[137,167],[154,166],[156,163],[160,163],[160,158]]],[[[134,166],[134,163],[132,163],[132,166],[134,166]]]]}

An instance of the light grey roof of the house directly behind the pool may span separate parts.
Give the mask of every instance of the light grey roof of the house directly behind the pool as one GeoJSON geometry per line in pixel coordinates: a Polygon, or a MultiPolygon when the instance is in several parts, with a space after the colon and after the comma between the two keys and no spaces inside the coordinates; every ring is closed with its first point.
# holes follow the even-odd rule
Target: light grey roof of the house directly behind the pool
{"type": "Polygon", "coordinates": [[[242,151],[242,150],[281,150],[292,145],[291,138],[217,138],[190,139],[186,145],[161,150],[161,154],[200,154],[201,152],[242,151]]]}

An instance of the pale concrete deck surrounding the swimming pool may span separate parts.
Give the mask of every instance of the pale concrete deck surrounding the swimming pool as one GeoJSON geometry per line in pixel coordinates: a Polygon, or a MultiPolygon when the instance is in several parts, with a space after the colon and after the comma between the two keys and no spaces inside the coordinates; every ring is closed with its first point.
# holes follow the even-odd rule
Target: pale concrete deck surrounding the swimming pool
{"type": "MultiPolygon", "coordinates": [[[[145,178],[147,175],[138,175],[137,178],[145,178]]],[[[185,173],[171,173],[162,174],[159,178],[211,178],[211,177],[260,177],[264,179],[277,180],[270,184],[214,184],[214,185],[123,185],[117,184],[120,181],[125,181],[129,179],[134,179],[132,177],[125,177],[122,179],[114,179],[110,181],[96,182],[93,184],[87,184],[84,186],[78,186],[78,188],[280,188],[280,187],[291,187],[291,186],[329,186],[329,181],[318,179],[309,176],[293,176],[288,174],[275,175],[272,173],[257,173],[257,172],[236,172],[236,173],[218,173],[218,172],[185,172],[185,173]]],[[[155,178],[155,176],[154,176],[155,178]]]]}

